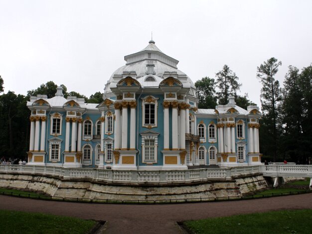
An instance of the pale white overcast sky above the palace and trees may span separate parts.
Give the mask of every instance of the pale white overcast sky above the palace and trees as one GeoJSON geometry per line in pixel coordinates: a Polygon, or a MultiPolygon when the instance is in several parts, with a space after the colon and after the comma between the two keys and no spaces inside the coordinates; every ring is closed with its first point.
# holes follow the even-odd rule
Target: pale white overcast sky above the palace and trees
{"type": "Polygon", "coordinates": [[[311,0],[0,0],[4,92],[26,95],[47,81],[87,97],[104,92],[151,31],[193,82],[227,64],[258,105],[257,66],[281,60],[283,83],[289,65],[312,63],[311,0]]]}

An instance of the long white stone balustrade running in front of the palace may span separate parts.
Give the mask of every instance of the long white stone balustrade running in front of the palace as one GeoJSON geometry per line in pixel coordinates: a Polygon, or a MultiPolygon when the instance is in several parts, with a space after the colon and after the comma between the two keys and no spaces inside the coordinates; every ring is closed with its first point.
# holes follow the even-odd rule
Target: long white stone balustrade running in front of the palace
{"type": "Polygon", "coordinates": [[[262,173],[271,177],[310,177],[311,165],[260,165],[190,170],[109,170],[99,168],[65,168],[34,165],[0,165],[0,173],[49,175],[61,179],[83,179],[108,183],[172,184],[207,180],[231,180],[237,176],[262,173]]]}

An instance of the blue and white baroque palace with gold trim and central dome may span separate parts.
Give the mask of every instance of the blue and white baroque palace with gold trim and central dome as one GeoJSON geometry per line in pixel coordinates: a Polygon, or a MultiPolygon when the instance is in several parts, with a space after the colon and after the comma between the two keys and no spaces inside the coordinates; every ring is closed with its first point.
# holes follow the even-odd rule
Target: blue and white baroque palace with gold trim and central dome
{"type": "Polygon", "coordinates": [[[257,165],[257,106],[233,97],[198,109],[196,87],[178,61],[149,45],[125,56],[105,86],[101,104],[63,97],[31,97],[28,164],[109,169],[187,169],[257,165]]]}

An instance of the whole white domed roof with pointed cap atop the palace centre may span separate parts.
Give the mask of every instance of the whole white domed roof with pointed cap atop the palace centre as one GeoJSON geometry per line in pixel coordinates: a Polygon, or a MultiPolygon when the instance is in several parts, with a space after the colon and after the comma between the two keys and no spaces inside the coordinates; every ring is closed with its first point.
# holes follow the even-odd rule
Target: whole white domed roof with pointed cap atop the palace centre
{"type": "Polygon", "coordinates": [[[155,87],[158,88],[159,83],[164,79],[164,73],[172,73],[179,77],[185,78],[183,87],[190,88],[189,94],[196,95],[196,87],[191,79],[182,71],[177,69],[178,60],[169,57],[164,54],[155,45],[155,41],[151,40],[149,45],[143,50],[126,55],[126,65],[118,68],[111,76],[107,84],[105,85],[104,94],[110,93],[111,86],[115,86],[114,77],[122,78],[124,72],[136,72],[137,79],[143,87],[155,87]],[[154,79],[146,79],[147,77],[154,77],[154,79]],[[156,84],[157,83],[157,84],[156,84]]]}

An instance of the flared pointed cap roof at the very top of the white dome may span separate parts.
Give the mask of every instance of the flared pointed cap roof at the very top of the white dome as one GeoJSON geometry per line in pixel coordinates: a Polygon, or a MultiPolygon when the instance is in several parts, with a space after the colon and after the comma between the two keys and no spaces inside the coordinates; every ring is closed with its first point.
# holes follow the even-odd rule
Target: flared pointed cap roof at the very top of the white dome
{"type": "Polygon", "coordinates": [[[126,65],[141,62],[144,60],[156,60],[175,69],[177,69],[177,64],[179,62],[178,60],[164,54],[161,50],[159,50],[158,47],[155,45],[155,41],[153,40],[151,40],[149,42],[149,45],[143,50],[125,56],[125,61],[127,62],[126,65]]]}

